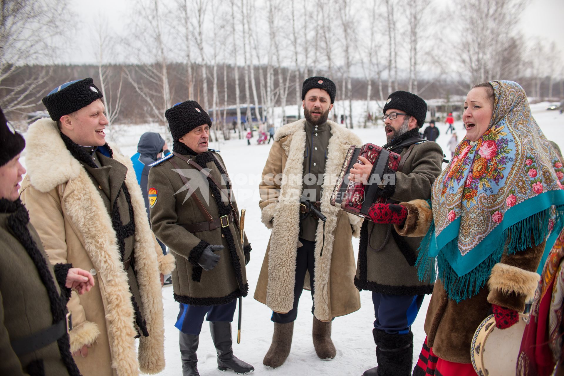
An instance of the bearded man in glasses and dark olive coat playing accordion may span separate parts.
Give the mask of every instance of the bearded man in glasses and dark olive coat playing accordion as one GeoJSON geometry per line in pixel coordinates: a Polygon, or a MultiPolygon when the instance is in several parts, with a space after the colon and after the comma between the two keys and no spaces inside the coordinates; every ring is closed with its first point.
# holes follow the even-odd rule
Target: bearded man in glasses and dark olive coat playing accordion
{"type": "MultiPolygon", "coordinates": [[[[376,316],[372,333],[378,361],[377,367],[364,372],[365,376],[411,375],[411,325],[424,295],[433,292],[432,284],[420,282],[417,277],[415,262],[422,237],[400,236],[391,223],[382,224],[377,218],[394,217],[401,223],[407,213],[396,213],[394,206],[398,205],[389,204],[431,197],[431,185],[440,174],[443,152],[437,143],[419,138],[426,114],[425,101],[407,91],[393,92],[384,106],[384,148],[400,154],[402,160],[395,179],[390,179],[392,184],[384,185],[380,192],[387,204],[372,205],[373,222],[365,220],[360,230],[355,285],[359,290],[372,291],[376,316]]],[[[356,163],[349,179],[366,183],[371,180],[368,175],[372,165],[364,157],[359,159],[364,164],[356,163]]]]}

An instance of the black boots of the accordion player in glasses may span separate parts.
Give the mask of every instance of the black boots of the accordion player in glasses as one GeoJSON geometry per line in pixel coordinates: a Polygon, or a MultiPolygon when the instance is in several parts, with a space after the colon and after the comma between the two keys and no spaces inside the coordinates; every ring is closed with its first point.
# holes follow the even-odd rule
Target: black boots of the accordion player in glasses
{"type": "Polygon", "coordinates": [[[413,333],[389,334],[374,328],[378,366],[363,376],[410,376],[413,364],[413,333]]]}

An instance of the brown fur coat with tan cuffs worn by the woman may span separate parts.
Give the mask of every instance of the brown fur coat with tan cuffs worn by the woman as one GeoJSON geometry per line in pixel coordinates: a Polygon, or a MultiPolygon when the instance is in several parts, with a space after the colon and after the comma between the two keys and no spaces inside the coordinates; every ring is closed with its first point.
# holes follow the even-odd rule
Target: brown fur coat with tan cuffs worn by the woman
{"type": "MultiPolygon", "coordinates": [[[[402,236],[424,236],[433,221],[433,211],[425,200],[402,202],[408,210],[402,227],[394,225],[402,236]]],[[[433,288],[425,317],[427,344],[440,359],[470,363],[470,344],[478,325],[491,315],[491,305],[523,312],[538,285],[535,272],[545,242],[514,254],[504,254],[493,266],[490,278],[478,294],[456,303],[448,298],[440,279],[433,288]]]]}

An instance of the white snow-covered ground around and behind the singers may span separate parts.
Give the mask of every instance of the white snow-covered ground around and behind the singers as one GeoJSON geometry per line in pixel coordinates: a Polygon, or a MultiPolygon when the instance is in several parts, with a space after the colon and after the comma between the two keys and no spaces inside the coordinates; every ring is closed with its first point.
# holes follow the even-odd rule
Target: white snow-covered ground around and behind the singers
{"type": "MultiPolygon", "coordinates": [[[[561,115],[554,110],[548,111],[546,110],[547,107],[548,103],[546,102],[531,106],[535,120],[549,140],[556,141],[561,147],[564,147],[564,114],[561,115]]],[[[341,108],[340,106],[337,107],[338,113],[341,113],[341,108]]],[[[365,102],[355,103],[355,108],[358,109],[356,113],[364,113],[365,102]]],[[[292,109],[296,112],[295,106],[292,109]]],[[[464,126],[461,121],[457,121],[455,127],[460,141],[465,135],[464,126]]],[[[136,152],[136,144],[143,132],[148,130],[159,131],[163,136],[166,132],[165,129],[157,126],[127,126],[124,129],[118,129],[120,127],[116,126],[115,128],[114,138],[120,144],[122,153],[127,156],[136,152]]],[[[450,152],[448,152],[446,145],[451,136],[450,134],[445,135],[447,126],[444,123],[439,123],[438,128],[440,136],[437,141],[447,154],[447,158],[450,158],[450,152]]],[[[360,136],[363,143],[372,142],[383,145],[386,142],[383,126],[354,129],[354,132],[360,136]]],[[[292,350],[287,361],[280,368],[274,370],[267,369],[262,364],[262,359],[271,343],[273,324],[270,321],[270,309],[254,300],[253,294],[270,236],[270,230],[260,220],[257,189],[270,145],[257,145],[256,136],[251,142],[252,145],[250,146],[246,144],[246,140],[238,139],[222,142],[219,145],[211,143],[211,148],[221,150],[221,155],[233,180],[239,208],[246,209],[245,232],[253,247],[251,260],[247,266],[249,295],[243,299],[241,343],[236,343],[236,311],[233,321],[233,352],[240,359],[252,364],[255,368],[254,374],[257,375],[362,375],[364,370],[376,365],[376,353],[372,337],[374,310],[369,291],[361,291],[362,307],[359,311],[347,316],[337,317],[333,321],[332,339],[337,348],[337,356],[332,361],[322,361],[315,354],[311,339],[311,295],[309,291],[303,291],[299,301],[298,318],[294,326],[292,350]]],[[[353,239],[353,244],[356,254],[358,239],[353,239]]],[[[165,307],[166,369],[159,375],[181,375],[182,365],[178,348],[179,331],[174,327],[178,314],[178,303],[173,299],[172,286],[165,286],[162,295],[165,307]]],[[[430,295],[426,297],[412,327],[414,364],[425,339],[423,325],[429,297],[430,295]]],[[[216,353],[209,334],[209,326],[206,324],[204,321],[200,347],[197,351],[198,369],[202,376],[221,375],[222,373],[217,369],[216,353]]]]}

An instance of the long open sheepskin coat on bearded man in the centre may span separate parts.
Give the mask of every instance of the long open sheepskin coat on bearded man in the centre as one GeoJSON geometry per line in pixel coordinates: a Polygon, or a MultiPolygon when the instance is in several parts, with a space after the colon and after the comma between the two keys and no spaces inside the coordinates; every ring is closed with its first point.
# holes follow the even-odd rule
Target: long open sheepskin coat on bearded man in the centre
{"type": "MultiPolygon", "coordinates": [[[[321,212],[327,216],[325,236],[319,221],[315,235],[314,315],[321,321],[347,315],[360,308],[359,291],[354,286],[355,262],[352,236],[360,233],[359,216],[345,213],[329,202],[337,175],[351,145],[361,141],[351,131],[328,121],[331,129],[321,212]],[[323,246],[323,254],[320,255],[323,246]]],[[[281,127],[262,171],[259,185],[261,220],[272,229],[254,298],[276,312],[288,312],[294,303],[296,254],[299,236],[299,199],[303,184],[305,119],[281,127]],[[283,178],[277,179],[284,174],[283,178]]],[[[309,289],[309,276],[305,278],[309,289]]]]}

